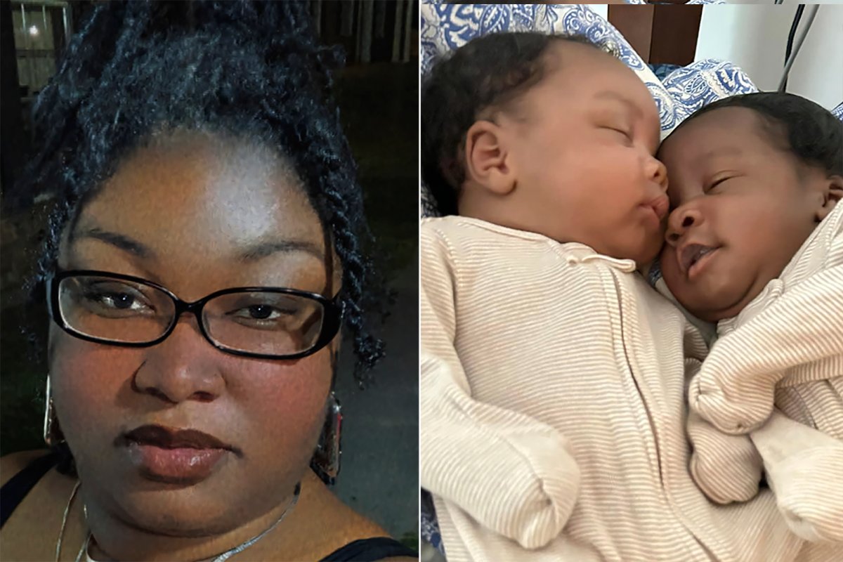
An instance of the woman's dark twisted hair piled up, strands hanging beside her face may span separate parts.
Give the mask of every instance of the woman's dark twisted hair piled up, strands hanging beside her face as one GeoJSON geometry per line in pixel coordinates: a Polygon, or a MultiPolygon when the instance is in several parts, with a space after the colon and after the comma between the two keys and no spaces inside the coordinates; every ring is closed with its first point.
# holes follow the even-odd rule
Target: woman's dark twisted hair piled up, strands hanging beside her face
{"type": "Polygon", "coordinates": [[[68,222],[154,133],[256,141],[291,163],[333,242],[362,383],[384,352],[363,304],[379,286],[363,255],[372,235],[331,93],[341,63],[341,53],[319,45],[307,2],[97,3],[35,104],[42,144],[21,187],[48,186],[57,201],[30,304],[44,302],[68,222]]]}

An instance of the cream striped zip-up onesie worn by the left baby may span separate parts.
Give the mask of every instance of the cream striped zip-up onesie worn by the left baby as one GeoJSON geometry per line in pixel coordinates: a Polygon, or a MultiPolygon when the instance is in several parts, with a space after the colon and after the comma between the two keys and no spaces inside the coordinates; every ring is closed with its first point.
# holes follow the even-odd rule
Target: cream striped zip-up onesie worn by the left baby
{"type": "Polygon", "coordinates": [[[421,485],[449,562],[796,559],[770,490],[717,506],[690,477],[706,351],[629,260],[423,220],[421,485]]]}

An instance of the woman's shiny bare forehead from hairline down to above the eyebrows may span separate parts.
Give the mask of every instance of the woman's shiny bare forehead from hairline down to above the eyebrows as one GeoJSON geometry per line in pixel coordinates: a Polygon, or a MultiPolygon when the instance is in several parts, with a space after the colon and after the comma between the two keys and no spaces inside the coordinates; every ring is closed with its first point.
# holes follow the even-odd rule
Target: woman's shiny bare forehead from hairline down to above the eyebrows
{"type": "MultiPolygon", "coordinates": [[[[138,148],[83,216],[149,235],[250,244],[286,234],[321,243],[322,228],[298,176],[259,144],[179,133],[138,148]]],[[[158,238],[166,238],[158,236],[158,238]]]]}

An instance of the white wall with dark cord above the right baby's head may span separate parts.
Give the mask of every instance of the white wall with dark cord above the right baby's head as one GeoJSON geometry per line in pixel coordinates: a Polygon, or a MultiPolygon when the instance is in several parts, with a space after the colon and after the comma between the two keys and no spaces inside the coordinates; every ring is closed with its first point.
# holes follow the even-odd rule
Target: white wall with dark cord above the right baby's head
{"type": "MultiPolygon", "coordinates": [[[[696,60],[718,58],[734,62],[759,89],[775,90],[796,8],[796,3],[787,0],[781,6],[705,6],[696,60]]],[[[808,9],[805,8],[802,24],[808,9]]],[[[843,6],[819,6],[790,72],[787,91],[828,109],[843,102],[843,6]]]]}

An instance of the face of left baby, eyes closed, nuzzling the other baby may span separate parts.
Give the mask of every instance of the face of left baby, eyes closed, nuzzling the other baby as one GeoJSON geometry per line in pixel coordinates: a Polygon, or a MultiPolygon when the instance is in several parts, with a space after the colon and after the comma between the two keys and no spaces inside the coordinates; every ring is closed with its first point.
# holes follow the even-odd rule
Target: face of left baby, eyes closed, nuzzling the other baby
{"type": "MultiPolygon", "coordinates": [[[[513,134],[518,227],[647,263],[663,243],[666,173],[656,104],[622,62],[566,44],[502,125],[513,134]]],[[[551,45],[551,48],[556,49],[551,45]]]]}

